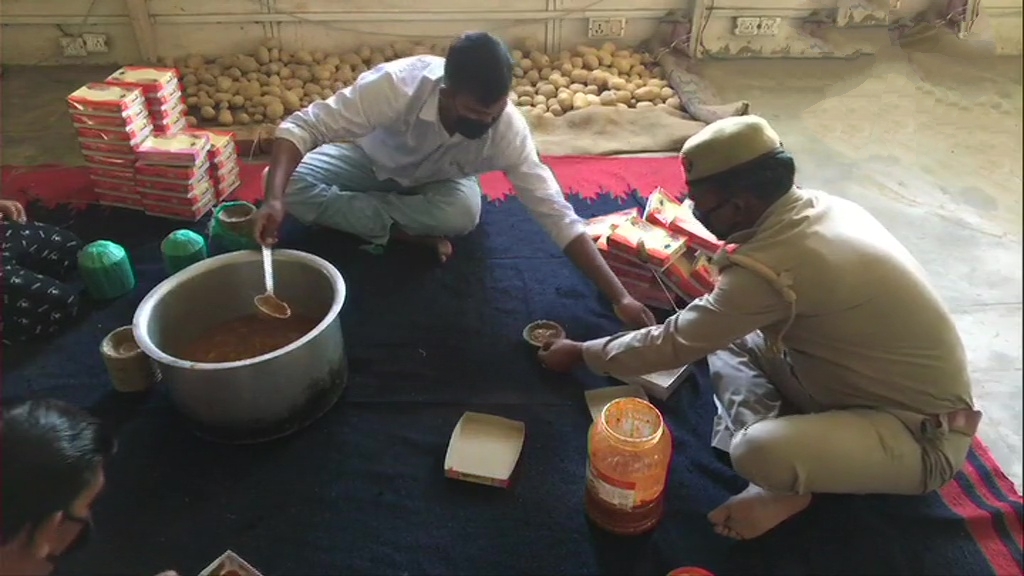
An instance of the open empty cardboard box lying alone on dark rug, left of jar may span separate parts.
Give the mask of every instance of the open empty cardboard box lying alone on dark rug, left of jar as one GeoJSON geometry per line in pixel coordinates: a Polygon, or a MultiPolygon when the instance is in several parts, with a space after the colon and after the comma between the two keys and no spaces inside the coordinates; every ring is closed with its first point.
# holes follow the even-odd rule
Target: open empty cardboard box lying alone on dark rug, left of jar
{"type": "Polygon", "coordinates": [[[466,412],[452,431],[444,476],[508,488],[525,438],[526,425],[522,422],[466,412]]]}

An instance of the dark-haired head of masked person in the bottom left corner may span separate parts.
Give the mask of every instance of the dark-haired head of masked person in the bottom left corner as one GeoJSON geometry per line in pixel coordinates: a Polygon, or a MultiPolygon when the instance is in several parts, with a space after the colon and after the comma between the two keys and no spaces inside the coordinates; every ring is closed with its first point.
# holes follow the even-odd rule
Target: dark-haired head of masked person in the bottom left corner
{"type": "Polygon", "coordinates": [[[83,542],[114,449],[113,436],[97,419],[62,402],[35,400],[4,410],[2,549],[44,559],[83,542]],[[71,527],[80,531],[69,544],[71,527]]]}

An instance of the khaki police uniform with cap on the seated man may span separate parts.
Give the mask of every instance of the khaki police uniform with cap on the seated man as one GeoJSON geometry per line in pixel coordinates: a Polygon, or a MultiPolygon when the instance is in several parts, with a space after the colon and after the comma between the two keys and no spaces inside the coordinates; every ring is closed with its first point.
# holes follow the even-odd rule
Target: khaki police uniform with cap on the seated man
{"type": "MultiPolygon", "coordinates": [[[[781,147],[756,116],[686,142],[691,181],[781,147]]],[[[795,188],[716,260],[720,280],[664,325],[584,344],[591,370],[634,376],[708,357],[713,445],[778,493],[924,493],[977,431],[963,341],[925,271],[853,202],[795,188]]]]}

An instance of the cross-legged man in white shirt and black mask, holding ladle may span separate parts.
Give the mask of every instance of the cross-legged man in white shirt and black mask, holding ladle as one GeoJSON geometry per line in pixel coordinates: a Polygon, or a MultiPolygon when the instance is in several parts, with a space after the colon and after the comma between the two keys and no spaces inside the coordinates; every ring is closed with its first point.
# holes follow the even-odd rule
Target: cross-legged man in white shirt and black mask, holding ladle
{"type": "Polygon", "coordinates": [[[276,241],[287,211],[305,224],[425,243],[443,262],[447,238],[480,217],[477,176],[502,170],[522,204],[630,326],[653,323],[608,270],[585,224],[540,159],[525,119],[508,106],[512,58],[485,33],[457,39],[445,58],[380,65],[278,127],[256,236],[276,241]]]}

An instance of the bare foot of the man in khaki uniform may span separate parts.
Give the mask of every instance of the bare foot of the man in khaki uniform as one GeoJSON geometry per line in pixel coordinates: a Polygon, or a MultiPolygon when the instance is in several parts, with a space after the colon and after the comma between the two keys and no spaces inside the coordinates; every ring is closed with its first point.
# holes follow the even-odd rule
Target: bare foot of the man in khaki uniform
{"type": "Polygon", "coordinates": [[[772,494],[750,485],[708,515],[715,532],[736,540],[757,538],[811,503],[810,494],[772,494]]]}

